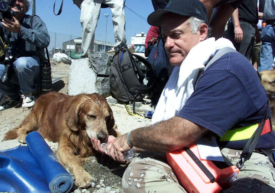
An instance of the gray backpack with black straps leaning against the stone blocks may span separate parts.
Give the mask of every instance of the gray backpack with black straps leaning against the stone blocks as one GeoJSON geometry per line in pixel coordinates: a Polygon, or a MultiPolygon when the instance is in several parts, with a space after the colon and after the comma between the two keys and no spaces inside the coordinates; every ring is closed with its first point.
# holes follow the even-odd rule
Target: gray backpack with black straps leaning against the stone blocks
{"type": "Polygon", "coordinates": [[[144,57],[132,54],[128,49],[119,46],[110,66],[109,81],[113,95],[124,103],[141,101],[145,94],[152,91],[155,86],[153,84],[146,87],[143,84],[145,75],[133,59],[133,56],[144,63],[151,70],[152,74],[155,74],[152,65],[144,57]]]}

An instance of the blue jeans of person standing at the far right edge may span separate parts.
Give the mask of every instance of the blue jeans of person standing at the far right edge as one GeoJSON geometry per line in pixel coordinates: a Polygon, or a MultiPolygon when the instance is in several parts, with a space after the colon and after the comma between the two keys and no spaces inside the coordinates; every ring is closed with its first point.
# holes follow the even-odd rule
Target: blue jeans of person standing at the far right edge
{"type": "Polygon", "coordinates": [[[267,25],[262,28],[262,50],[260,54],[260,66],[258,72],[271,70],[275,56],[275,26],[267,25]]]}

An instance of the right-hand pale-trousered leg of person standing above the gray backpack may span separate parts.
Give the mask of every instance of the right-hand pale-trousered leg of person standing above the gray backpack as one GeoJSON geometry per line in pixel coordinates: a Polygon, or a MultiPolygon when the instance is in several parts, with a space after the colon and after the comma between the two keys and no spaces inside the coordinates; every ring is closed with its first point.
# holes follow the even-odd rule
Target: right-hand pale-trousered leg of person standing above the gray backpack
{"type": "Polygon", "coordinates": [[[106,0],[107,5],[112,11],[112,20],[114,26],[115,35],[115,50],[118,45],[122,47],[126,46],[126,35],[125,35],[125,13],[123,7],[123,0],[106,0]]]}

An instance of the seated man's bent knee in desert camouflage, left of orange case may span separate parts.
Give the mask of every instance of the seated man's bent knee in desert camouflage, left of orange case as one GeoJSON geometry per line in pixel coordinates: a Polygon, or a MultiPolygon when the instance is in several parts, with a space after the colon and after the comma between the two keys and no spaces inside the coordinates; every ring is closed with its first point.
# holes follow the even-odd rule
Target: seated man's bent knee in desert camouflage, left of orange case
{"type": "Polygon", "coordinates": [[[144,151],[131,161],[122,177],[125,192],[184,192],[166,154],[144,151]]]}

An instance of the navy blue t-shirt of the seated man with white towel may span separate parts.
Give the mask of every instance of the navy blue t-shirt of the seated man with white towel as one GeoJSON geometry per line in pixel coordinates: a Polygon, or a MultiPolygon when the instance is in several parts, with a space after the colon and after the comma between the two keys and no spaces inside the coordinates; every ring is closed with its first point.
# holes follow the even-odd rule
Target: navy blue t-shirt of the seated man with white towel
{"type": "MultiPolygon", "coordinates": [[[[262,121],[267,95],[251,63],[239,53],[227,53],[211,64],[177,116],[223,136],[231,128],[262,121]]],[[[270,108],[268,107],[269,118],[270,108]]],[[[219,144],[242,150],[247,140],[219,144]]],[[[256,149],[275,148],[275,133],[260,137],[256,149]]]]}

